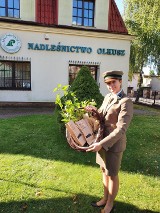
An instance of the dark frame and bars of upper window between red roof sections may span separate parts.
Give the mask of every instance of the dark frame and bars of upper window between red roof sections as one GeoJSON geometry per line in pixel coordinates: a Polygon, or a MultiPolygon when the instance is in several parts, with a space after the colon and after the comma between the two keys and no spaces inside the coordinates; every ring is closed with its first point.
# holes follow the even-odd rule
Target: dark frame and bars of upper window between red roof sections
{"type": "Polygon", "coordinates": [[[73,25],[94,27],[95,0],[73,0],[72,9],[73,9],[73,11],[72,11],[72,24],[73,25]],[[76,6],[75,6],[75,2],[77,2],[76,6]],[[82,3],[81,6],[79,3],[82,3]],[[88,8],[85,7],[85,3],[88,3],[88,8]],[[93,3],[93,8],[90,8],[89,3],[93,3]],[[78,14],[80,12],[80,10],[82,10],[82,12],[81,12],[82,15],[78,14]],[[85,11],[88,12],[88,15],[86,17],[85,17],[85,11]],[[92,12],[92,17],[89,17],[90,12],[92,12]],[[81,24],[78,23],[78,20],[81,20],[81,24]],[[88,22],[88,24],[85,24],[85,20],[88,22]],[[90,21],[92,22],[92,24],[89,24],[90,21]]]}

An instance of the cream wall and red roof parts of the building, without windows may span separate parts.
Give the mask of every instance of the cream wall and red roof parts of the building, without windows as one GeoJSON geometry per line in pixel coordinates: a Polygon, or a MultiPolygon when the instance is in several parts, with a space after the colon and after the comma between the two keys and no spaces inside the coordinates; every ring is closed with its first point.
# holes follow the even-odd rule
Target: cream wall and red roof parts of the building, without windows
{"type": "Polygon", "coordinates": [[[112,69],[123,70],[123,88],[127,92],[130,41],[133,37],[128,35],[114,1],[95,1],[93,27],[72,24],[73,0],[21,0],[20,3],[20,21],[26,22],[18,22],[19,19],[4,21],[5,17],[0,17],[0,39],[8,33],[14,34],[21,40],[22,46],[12,54],[0,47],[0,59],[29,60],[31,90],[13,90],[13,87],[6,90],[2,87],[0,101],[53,102],[56,97],[53,89],[58,84],[69,83],[70,64],[96,64],[97,84],[103,95],[108,91],[102,73],[112,69]],[[38,46],[45,46],[45,50],[38,46]],[[56,50],[50,51],[52,46],[56,50]],[[69,49],[58,49],[62,46],[69,49]]]}

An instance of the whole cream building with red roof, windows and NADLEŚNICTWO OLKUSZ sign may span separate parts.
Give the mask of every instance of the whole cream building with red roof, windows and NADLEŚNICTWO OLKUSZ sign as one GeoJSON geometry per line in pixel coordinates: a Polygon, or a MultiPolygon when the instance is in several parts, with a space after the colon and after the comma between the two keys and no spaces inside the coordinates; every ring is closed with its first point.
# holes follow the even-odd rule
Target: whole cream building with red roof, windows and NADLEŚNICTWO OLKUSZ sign
{"type": "Polygon", "coordinates": [[[114,0],[0,1],[0,102],[53,102],[87,65],[100,91],[102,73],[123,70],[130,42],[114,0]]]}

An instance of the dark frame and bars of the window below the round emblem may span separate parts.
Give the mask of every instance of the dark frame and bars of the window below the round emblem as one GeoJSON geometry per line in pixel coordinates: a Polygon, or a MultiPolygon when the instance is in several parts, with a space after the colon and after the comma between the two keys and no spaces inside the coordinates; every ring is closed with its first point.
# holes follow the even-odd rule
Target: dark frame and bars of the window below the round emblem
{"type": "MultiPolygon", "coordinates": [[[[31,90],[31,61],[11,61],[11,60],[0,60],[0,63],[4,63],[4,66],[6,66],[7,63],[11,64],[11,70],[7,70],[6,68],[4,68],[4,70],[0,70],[0,74],[1,72],[3,72],[4,77],[2,77],[2,80],[4,81],[4,86],[0,86],[0,90],[21,90],[21,91],[30,91],[31,90]],[[6,63],[6,64],[5,64],[6,63]],[[22,75],[21,78],[16,77],[16,65],[22,64],[22,66],[28,64],[29,66],[29,71],[26,71],[26,67],[20,72],[20,74],[22,75]],[[7,81],[7,77],[5,76],[5,72],[10,72],[11,75],[11,84],[12,86],[6,87],[5,86],[5,81],[7,81]],[[29,72],[29,79],[24,77],[24,73],[25,72],[29,72]],[[25,87],[23,86],[23,84],[25,84],[25,81],[29,82],[29,87],[25,87]],[[16,84],[20,83],[22,84],[22,86],[16,86],[16,84]]],[[[17,71],[18,73],[18,71],[17,71]]],[[[1,81],[1,75],[0,75],[0,81],[1,81]]],[[[0,82],[1,83],[1,82],[0,82]]]]}

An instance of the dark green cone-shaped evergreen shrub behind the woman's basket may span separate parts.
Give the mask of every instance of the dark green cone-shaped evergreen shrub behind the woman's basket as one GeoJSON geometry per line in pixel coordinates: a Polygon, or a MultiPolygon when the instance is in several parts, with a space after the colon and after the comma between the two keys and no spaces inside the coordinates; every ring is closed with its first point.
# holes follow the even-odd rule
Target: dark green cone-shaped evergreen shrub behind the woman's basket
{"type": "Polygon", "coordinates": [[[87,66],[82,66],[70,90],[76,92],[77,98],[81,101],[94,99],[98,107],[102,104],[104,97],[87,66]]]}

